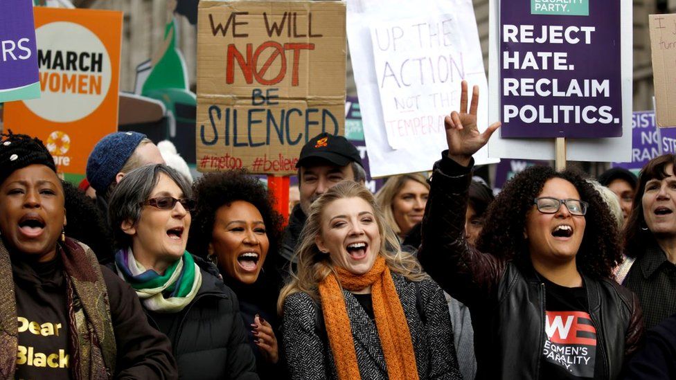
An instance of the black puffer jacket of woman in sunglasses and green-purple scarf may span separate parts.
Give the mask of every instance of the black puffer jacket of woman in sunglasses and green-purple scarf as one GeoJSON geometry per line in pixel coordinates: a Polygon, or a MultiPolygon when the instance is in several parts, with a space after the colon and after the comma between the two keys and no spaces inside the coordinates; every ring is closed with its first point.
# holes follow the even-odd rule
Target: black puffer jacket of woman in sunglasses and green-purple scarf
{"type": "Polygon", "coordinates": [[[258,379],[237,297],[204,269],[195,299],[179,313],[145,313],[169,337],[180,379],[258,379]]]}

